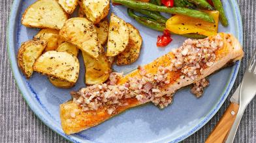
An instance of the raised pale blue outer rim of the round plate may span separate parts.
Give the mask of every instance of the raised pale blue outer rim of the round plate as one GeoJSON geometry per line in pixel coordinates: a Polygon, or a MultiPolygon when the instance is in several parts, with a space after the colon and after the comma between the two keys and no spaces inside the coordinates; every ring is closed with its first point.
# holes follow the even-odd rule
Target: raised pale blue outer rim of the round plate
{"type": "MultiPolygon", "coordinates": [[[[14,0],[12,3],[12,6],[10,8],[10,15],[8,18],[8,25],[7,25],[7,52],[8,52],[8,59],[10,62],[10,68],[12,70],[12,74],[14,77],[14,80],[16,82],[16,85],[18,86],[18,89],[20,91],[20,94],[22,94],[22,97],[24,98],[25,102],[27,103],[27,105],[29,106],[29,108],[35,113],[35,115],[37,116],[37,118],[39,118],[45,125],[47,125],[48,127],[50,127],[50,129],[52,129],[52,131],[56,132],[57,134],[63,136],[64,138],[66,138],[67,140],[71,141],[71,142],[91,142],[91,140],[80,140],[80,138],[76,138],[74,136],[69,136],[69,135],[65,135],[65,133],[63,133],[63,131],[60,131],[59,129],[56,129],[54,127],[54,125],[52,125],[50,122],[48,122],[46,120],[46,118],[44,118],[41,114],[41,112],[37,112],[39,111],[38,107],[35,106],[35,103],[33,102],[29,102],[29,96],[31,96],[28,92],[26,92],[26,88],[27,86],[25,86],[24,83],[22,83],[22,75],[20,75],[20,72],[18,70],[18,64],[16,61],[16,53],[14,51],[15,49],[15,44],[14,41],[16,41],[16,33],[18,32],[18,25],[16,24],[16,20],[19,19],[18,18],[18,10],[20,10],[20,4],[23,2],[24,0],[14,0]],[[10,22],[10,21],[14,21],[14,22],[10,22]],[[10,29],[12,28],[12,29],[10,29]]],[[[243,29],[242,29],[242,18],[241,18],[241,14],[240,14],[240,9],[238,6],[238,2],[236,0],[229,0],[229,3],[231,5],[232,11],[234,12],[234,17],[235,17],[235,21],[237,24],[238,29],[236,29],[236,36],[238,38],[238,41],[243,44],[243,38],[242,38],[242,34],[243,34],[243,29]]],[[[191,127],[191,129],[185,133],[184,135],[180,135],[178,136],[175,140],[171,140],[170,137],[166,136],[165,138],[162,138],[161,140],[171,140],[168,142],[180,142],[182,140],[184,140],[185,138],[193,135],[193,133],[195,133],[196,131],[198,131],[199,129],[201,129],[210,119],[212,119],[212,117],[216,114],[216,112],[220,109],[221,105],[223,105],[225,99],[227,99],[227,96],[229,96],[229,92],[232,89],[232,86],[234,85],[234,81],[236,79],[236,76],[238,74],[238,70],[240,67],[240,60],[238,60],[236,62],[236,64],[234,64],[234,66],[232,66],[232,71],[231,74],[229,75],[229,81],[227,82],[227,85],[225,86],[225,88],[223,89],[223,92],[221,93],[220,99],[219,101],[217,101],[216,105],[214,107],[212,107],[211,110],[209,110],[209,112],[206,114],[206,116],[200,120],[200,122],[195,125],[194,127],[191,127]]],[[[157,140],[155,140],[157,141],[157,140]]],[[[160,141],[160,140],[159,140],[160,141]]]]}

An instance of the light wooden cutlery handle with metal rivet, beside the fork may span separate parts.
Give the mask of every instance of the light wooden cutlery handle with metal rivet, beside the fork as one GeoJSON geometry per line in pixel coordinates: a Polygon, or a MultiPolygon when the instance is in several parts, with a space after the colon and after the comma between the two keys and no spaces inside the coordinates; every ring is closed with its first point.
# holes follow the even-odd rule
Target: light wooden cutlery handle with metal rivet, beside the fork
{"type": "Polygon", "coordinates": [[[229,133],[234,120],[236,119],[238,109],[239,105],[236,103],[231,103],[229,105],[228,109],[221,117],[221,120],[219,120],[212,133],[208,136],[206,143],[225,142],[227,134],[229,133]]]}

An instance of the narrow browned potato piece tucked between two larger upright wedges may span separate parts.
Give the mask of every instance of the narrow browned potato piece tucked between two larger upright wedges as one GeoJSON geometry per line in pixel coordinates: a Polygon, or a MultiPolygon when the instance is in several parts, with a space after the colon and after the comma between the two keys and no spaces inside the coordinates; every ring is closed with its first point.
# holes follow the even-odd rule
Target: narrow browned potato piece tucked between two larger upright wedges
{"type": "Polygon", "coordinates": [[[101,43],[101,45],[104,45],[108,40],[108,26],[109,23],[107,19],[104,19],[103,21],[100,21],[99,23],[95,24],[99,42],[101,43]]]}

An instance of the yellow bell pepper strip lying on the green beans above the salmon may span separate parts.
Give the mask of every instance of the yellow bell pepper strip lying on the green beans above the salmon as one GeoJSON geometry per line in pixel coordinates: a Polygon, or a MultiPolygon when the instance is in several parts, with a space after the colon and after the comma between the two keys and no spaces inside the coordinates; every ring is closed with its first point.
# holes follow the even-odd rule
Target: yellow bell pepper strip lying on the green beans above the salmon
{"type": "Polygon", "coordinates": [[[175,34],[197,33],[210,36],[217,33],[219,12],[217,10],[202,10],[214,18],[215,23],[210,23],[202,19],[191,18],[189,16],[175,15],[167,20],[168,31],[175,34]]]}

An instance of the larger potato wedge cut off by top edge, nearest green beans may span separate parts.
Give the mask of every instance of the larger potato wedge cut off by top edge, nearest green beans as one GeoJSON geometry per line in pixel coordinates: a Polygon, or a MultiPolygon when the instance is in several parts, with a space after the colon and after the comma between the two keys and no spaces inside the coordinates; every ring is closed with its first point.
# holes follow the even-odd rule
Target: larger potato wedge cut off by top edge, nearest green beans
{"type": "Polygon", "coordinates": [[[82,9],[93,23],[99,23],[109,12],[110,0],[82,0],[82,9]]]}

